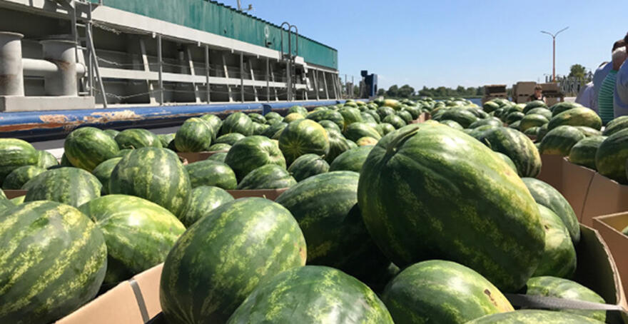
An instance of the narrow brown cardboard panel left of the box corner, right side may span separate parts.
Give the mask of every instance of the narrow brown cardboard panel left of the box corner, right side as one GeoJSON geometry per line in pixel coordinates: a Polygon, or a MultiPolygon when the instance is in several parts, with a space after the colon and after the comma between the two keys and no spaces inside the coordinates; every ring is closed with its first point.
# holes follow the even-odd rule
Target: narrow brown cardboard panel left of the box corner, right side
{"type": "Polygon", "coordinates": [[[589,186],[591,186],[595,173],[590,168],[569,162],[568,158],[563,158],[562,160],[562,186],[560,193],[569,201],[569,205],[574,208],[578,221],[581,223],[584,201],[587,200],[589,186]]]}

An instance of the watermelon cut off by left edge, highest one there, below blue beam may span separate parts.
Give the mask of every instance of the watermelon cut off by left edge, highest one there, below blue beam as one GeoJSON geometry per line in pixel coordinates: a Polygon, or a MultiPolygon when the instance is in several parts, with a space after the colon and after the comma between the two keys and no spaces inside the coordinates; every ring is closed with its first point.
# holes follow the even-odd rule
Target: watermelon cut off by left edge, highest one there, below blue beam
{"type": "Polygon", "coordinates": [[[17,138],[0,138],[0,183],[20,166],[34,166],[39,161],[39,153],[27,141],[17,138]]]}

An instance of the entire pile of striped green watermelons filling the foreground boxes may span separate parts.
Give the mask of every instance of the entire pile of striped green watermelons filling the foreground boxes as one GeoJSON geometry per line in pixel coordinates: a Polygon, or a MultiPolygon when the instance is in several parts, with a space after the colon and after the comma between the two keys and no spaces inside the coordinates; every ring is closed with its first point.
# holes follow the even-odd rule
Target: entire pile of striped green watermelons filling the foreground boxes
{"type": "Polygon", "coordinates": [[[2,188],[27,190],[0,191],[0,323],[57,320],[159,263],[168,323],[603,322],[504,295],[604,303],[570,280],[577,218],[535,178],[539,150],[596,136],[610,164],[628,121],[602,134],[587,109],[378,98],[198,116],[173,134],[83,127],[60,163],[0,139],[2,188]],[[219,153],[177,155],[201,151],[219,153]]]}

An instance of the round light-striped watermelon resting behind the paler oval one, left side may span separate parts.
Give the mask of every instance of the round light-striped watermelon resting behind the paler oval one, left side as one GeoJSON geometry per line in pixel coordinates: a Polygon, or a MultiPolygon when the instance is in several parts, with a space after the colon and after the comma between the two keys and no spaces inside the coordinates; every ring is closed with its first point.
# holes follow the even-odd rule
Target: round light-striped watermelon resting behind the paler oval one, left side
{"type": "Polygon", "coordinates": [[[109,180],[110,193],[144,198],[177,217],[186,213],[191,190],[178,156],[164,148],[133,150],[113,168],[109,180]]]}

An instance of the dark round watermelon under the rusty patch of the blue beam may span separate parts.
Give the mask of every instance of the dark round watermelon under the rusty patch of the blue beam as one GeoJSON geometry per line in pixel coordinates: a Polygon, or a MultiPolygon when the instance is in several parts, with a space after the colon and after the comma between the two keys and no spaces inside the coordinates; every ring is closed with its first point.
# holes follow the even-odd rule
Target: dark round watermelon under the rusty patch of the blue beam
{"type": "Polygon", "coordinates": [[[64,151],[73,166],[91,172],[98,164],[115,158],[120,148],[111,136],[100,129],[81,127],[66,137],[64,151]]]}

